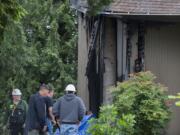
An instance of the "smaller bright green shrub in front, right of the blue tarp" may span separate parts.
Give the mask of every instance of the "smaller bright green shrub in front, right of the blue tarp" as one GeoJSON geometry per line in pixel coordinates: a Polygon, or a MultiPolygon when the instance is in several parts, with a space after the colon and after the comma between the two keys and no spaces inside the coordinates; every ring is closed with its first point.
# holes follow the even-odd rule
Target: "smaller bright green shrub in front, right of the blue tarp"
{"type": "Polygon", "coordinates": [[[88,132],[91,135],[133,135],[134,115],[118,115],[114,105],[101,107],[98,119],[90,121],[88,132]]]}

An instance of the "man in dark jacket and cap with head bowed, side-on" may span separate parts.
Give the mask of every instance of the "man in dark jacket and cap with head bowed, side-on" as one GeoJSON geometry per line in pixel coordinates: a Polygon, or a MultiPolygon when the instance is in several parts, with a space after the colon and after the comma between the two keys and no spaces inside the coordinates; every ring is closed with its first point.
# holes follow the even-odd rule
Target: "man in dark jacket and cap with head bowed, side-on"
{"type": "Polygon", "coordinates": [[[46,103],[44,97],[48,95],[49,88],[43,84],[39,92],[32,95],[29,100],[27,116],[28,135],[46,135],[46,103]]]}

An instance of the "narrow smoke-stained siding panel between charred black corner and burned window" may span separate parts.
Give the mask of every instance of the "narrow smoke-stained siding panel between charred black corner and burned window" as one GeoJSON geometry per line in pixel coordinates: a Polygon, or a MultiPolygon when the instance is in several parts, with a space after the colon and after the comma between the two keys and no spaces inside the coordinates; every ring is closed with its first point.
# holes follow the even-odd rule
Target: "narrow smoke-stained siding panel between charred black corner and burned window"
{"type": "Polygon", "coordinates": [[[111,102],[109,87],[116,82],[116,30],[112,18],[105,19],[103,102],[111,102]]]}

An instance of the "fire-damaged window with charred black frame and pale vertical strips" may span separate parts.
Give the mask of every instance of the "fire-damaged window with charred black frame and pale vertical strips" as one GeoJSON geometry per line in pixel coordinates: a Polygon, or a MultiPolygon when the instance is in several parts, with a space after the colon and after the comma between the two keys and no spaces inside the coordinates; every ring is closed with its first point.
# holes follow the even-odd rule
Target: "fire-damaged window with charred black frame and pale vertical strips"
{"type": "Polygon", "coordinates": [[[145,24],[117,20],[117,80],[144,71],[145,24]],[[136,36],[137,35],[137,36],[136,36]]]}

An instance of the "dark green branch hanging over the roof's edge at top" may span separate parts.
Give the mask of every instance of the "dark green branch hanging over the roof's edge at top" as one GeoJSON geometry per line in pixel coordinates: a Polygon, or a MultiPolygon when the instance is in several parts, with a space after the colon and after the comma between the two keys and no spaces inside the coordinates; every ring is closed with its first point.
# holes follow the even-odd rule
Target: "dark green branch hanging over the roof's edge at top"
{"type": "Polygon", "coordinates": [[[108,6],[112,0],[88,0],[89,14],[94,16],[105,6],[108,6]]]}

